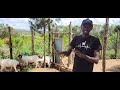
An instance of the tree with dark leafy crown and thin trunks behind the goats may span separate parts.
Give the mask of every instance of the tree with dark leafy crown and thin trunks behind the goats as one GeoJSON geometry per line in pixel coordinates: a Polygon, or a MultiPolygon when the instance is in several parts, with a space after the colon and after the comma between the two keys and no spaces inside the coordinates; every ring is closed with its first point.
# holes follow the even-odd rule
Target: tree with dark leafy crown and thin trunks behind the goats
{"type": "MultiPolygon", "coordinates": [[[[53,20],[54,19],[51,19],[51,18],[30,18],[30,26],[38,33],[41,34],[41,31],[44,32],[44,67],[46,67],[45,65],[45,56],[46,56],[46,48],[45,48],[45,32],[46,32],[46,29],[48,28],[49,29],[49,49],[50,49],[50,31],[51,31],[51,24],[54,24],[53,23],[53,20]]],[[[60,19],[59,18],[56,18],[55,19],[56,21],[59,21],[60,19]]],[[[50,51],[50,50],[49,50],[50,51]]]]}

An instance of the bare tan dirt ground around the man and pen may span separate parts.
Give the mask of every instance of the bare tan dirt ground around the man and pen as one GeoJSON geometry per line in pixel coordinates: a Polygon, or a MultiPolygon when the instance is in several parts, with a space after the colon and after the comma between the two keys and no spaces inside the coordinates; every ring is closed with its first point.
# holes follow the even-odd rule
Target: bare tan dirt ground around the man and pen
{"type": "MultiPolygon", "coordinates": [[[[65,57],[63,64],[67,67],[68,58],[65,57]]],[[[70,65],[69,69],[72,70],[73,64],[70,65]]],[[[60,72],[54,68],[37,68],[31,70],[31,72],[60,72]]],[[[94,65],[93,72],[102,72],[102,60],[98,64],[94,65]]],[[[120,59],[109,59],[106,60],[106,72],[120,72],[120,59]]]]}

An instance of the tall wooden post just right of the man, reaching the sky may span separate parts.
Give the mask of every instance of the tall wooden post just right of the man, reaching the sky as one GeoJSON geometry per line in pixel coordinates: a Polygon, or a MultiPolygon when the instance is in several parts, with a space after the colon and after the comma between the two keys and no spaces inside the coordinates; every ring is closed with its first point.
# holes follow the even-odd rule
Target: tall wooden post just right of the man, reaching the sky
{"type": "Polygon", "coordinates": [[[109,27],[109,18],[106,18],[106,25],[105,25],[105,33],[104,33],[104,45],[103,45],[103,72],[105,72],[106,68],[106,47],[107,47],[107,34],[108,34],[108,27],[109,27]]]}

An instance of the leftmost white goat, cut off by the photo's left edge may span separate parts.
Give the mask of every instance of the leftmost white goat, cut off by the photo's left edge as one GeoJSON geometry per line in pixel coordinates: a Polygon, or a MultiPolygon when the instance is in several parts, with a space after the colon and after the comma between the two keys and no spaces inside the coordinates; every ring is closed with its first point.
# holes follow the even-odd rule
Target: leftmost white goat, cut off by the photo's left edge
{"type": "Polygon", "coordinates": [[[11,68],[13,67],[15,69],[15,72],[18,72],[17,69],[16,69],[18,64],[19,64],[19,62],[17,60],[11,60],[11,59],[0,60],[1,72],[6,67],[11,67],[11,68]]]}

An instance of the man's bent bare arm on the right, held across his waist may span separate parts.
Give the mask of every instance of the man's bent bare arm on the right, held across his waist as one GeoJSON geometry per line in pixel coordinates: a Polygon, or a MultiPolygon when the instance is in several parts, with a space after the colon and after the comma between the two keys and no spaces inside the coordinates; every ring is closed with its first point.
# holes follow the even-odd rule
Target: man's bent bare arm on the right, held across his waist
{"type": "Polygon", "coordinates": [[[80,57],[80,58],[83,58],[83,59],[85,59],[85,60],[87,60],[87,61],[89,61],[89,62],[91,62],[91,63],[95,63],[95,64],[97,64],[98,63],[98,61],[99,61],[99,51],[98,50],[95,50],[94,51],[94,57],[90,57],[90,56],[88,56],[88,55],[85,55],[85,54],[82,54],[82,53],[80,53],[79,51],[77,51],[77,50],[74,50],[74,52],[80,57]]]}

